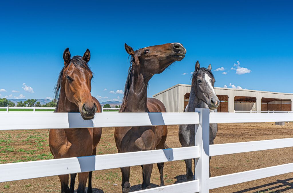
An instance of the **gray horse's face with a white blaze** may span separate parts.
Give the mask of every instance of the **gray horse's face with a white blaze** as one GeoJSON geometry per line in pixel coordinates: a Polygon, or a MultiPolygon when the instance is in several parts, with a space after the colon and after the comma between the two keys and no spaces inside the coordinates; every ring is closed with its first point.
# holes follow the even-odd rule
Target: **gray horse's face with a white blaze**
{"type": "Polygon", "coordinates": [[[195,64],[195,72],[193,73],[192,86],[195,95],[200,100],[204,101],[209,109],[214,110],[219,106],[219,99],[214,90],[215,78],[210,73],[212,66],[208,68],[200,68],[200,63],[195,64]]]}

